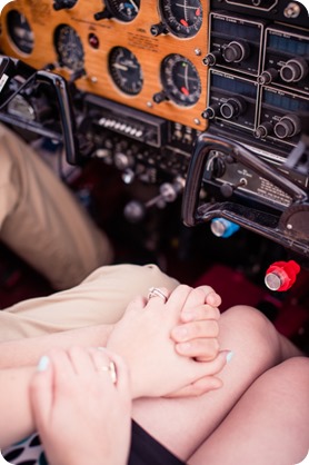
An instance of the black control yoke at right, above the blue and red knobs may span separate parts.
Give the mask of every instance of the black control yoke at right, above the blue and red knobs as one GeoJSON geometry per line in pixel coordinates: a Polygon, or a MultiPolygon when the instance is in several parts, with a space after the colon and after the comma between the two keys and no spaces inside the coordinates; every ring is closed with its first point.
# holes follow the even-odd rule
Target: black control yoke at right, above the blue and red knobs
{"type": "Polygon", "coordinates": [[[201,133],[195,145],[190,160],[182,200],[182,219],[187,226],[196,226],[213,218],[226,218],[251,231],[281,244],[285,248],[309,258],[309,202],[308,191],[291,180],[288,175],[261,160],[240,144],[207,132],[201,133]],[[213,164],[207,164],[210,154],[217,151],[240,162],[258,176],[267,179],[290,197],[285,211],[270,208],[252,208],[248,202],[202,202],[200,190],[207,190],[207,179],[215,179],[213,164]],[[268,211],[267,211],[268,210],[268,211]]]}

